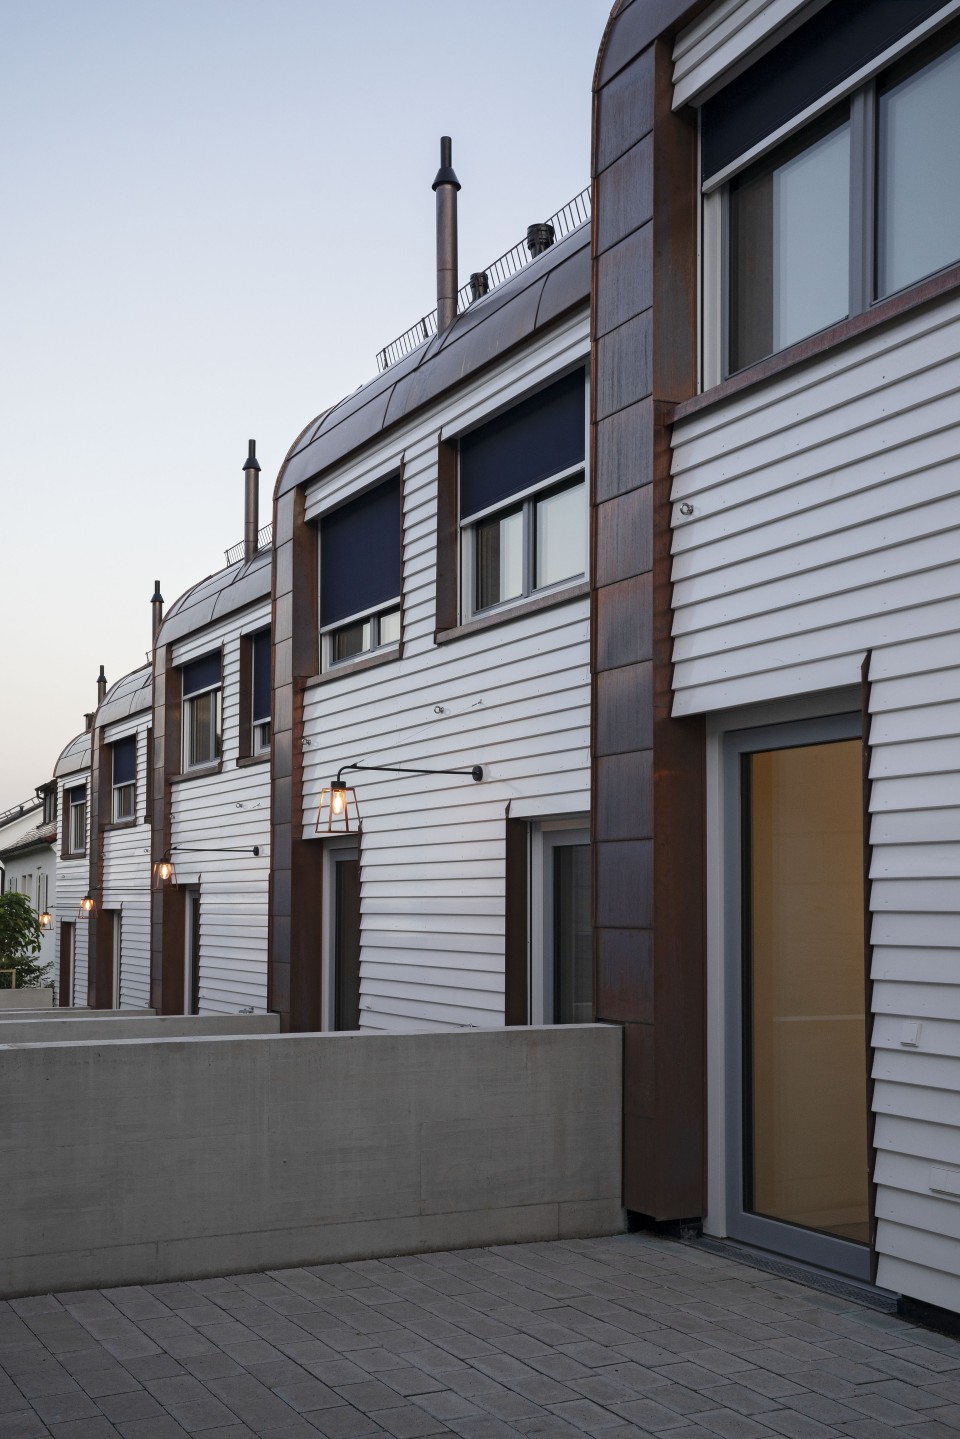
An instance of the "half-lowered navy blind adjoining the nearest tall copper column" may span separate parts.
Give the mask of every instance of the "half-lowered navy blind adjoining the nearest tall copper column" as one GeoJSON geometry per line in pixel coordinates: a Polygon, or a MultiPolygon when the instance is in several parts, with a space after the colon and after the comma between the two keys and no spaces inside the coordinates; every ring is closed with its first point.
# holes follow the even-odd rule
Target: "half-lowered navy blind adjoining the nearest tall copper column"
{"type": "Polygon", "coordinates": [[[583,465],[586,373],[574,370],[461,439],[461,519],[583,465]]]}

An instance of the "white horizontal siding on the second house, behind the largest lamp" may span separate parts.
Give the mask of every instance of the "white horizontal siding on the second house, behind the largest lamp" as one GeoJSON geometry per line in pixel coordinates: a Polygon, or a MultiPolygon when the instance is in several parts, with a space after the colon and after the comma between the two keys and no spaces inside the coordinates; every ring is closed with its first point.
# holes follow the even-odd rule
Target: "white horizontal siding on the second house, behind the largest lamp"
{"type": "MultiPolygon", "coordinates": [[[[403,658],[312,685],[304,707],[305,836],[341,764],[484,766],[469,777],[347,776],[360,797],[361,1027],[504,1022],[505,814],[587,813],[589,602],[433,643],[436,452],[445,436],[586,358],[583,315],[419,416],[307,492],[317,518],[404,465],[403,658]]],[[[320,940],[317,944],[320,961],[320,940]]]]}

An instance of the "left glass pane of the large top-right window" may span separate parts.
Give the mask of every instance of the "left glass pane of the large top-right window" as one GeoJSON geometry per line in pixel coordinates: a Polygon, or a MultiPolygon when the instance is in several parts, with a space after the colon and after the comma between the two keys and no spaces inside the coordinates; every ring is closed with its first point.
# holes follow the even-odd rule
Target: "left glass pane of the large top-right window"
{"type": "Polygon", "coordinates": [[[731,371],[849,308],[849,122],[777,155],[730,186],[731,371]]]}

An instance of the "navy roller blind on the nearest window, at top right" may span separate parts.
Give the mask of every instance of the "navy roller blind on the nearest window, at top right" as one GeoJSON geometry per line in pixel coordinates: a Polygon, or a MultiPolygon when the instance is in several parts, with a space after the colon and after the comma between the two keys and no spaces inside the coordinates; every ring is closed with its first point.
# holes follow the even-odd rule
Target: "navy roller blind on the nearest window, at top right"
{"type": "Polygon", "coordinates": [[[723,170],[881,55],[943,0],[833,0],[701,109],[702,177],[723,170]]]}

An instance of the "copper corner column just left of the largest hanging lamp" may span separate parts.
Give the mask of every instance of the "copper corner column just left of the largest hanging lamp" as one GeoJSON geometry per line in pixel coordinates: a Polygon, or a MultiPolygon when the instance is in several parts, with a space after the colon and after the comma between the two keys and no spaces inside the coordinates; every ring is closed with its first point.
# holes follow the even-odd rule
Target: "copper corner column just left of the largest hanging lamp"
{"type": "Polygon", "coordinates": [[[305,491],[273,502],[273,773],[268,1009],[284,1030],[321,1027],[322,846],[304,832],[304,681],[320,668],[317,528],[305,491]]]}

